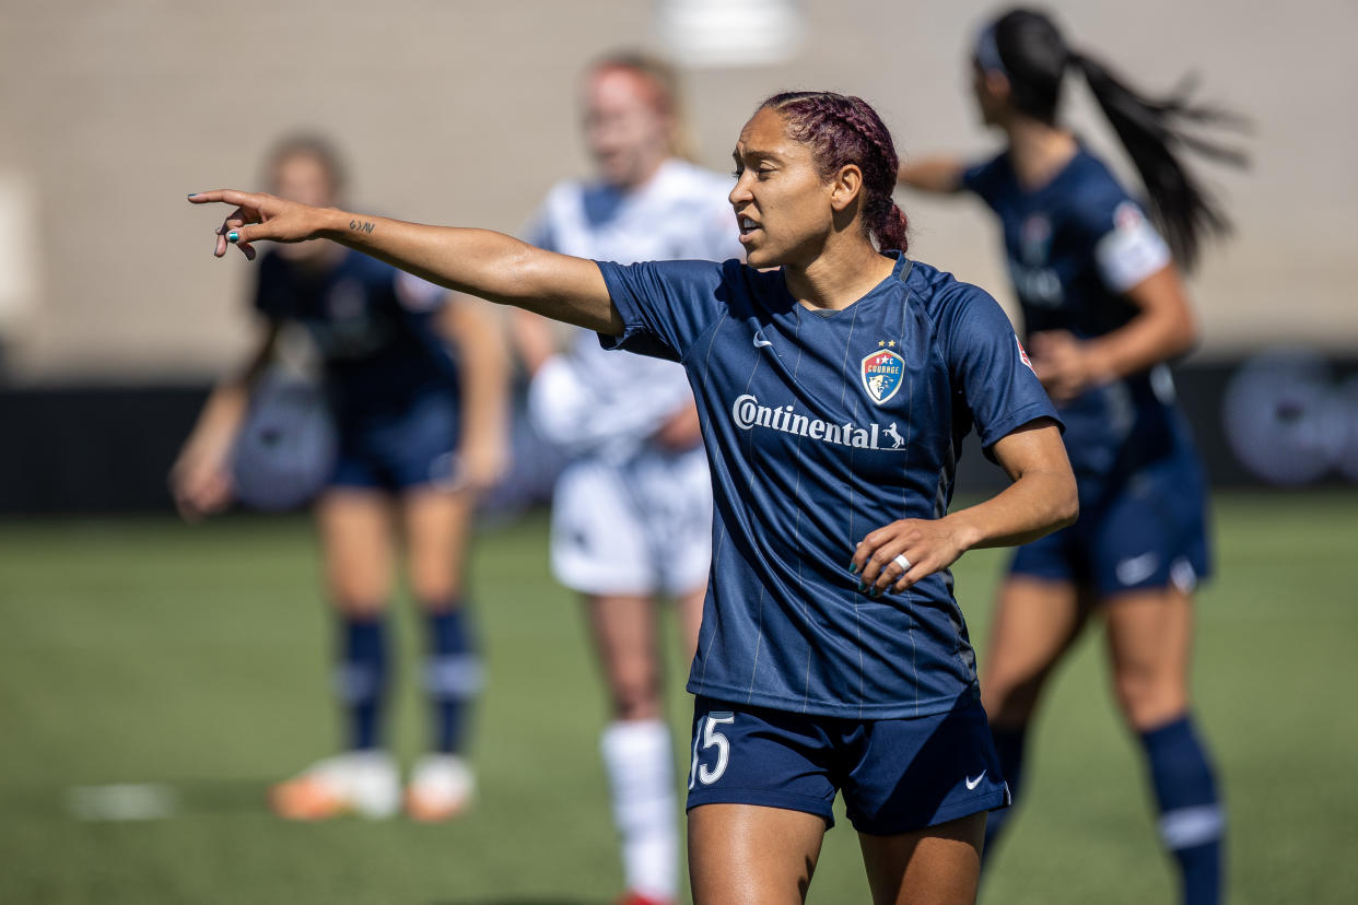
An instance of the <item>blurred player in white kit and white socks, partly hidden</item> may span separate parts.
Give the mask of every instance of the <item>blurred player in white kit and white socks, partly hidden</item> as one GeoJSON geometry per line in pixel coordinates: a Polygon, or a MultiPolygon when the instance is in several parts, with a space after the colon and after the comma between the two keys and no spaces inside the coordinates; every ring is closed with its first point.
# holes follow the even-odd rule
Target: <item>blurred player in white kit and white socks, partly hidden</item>
{"type": "MultiPolygon", "coordinates": [[[[551,251],[636,261],[741,258],[731,180],[687,161],[679,87],[659,60],[621,53],[585,73],[595,179],[551,189],[526,236],[551,251]]],[[[680,365],[611,354],[515,312],[530,406],[570,459],[553,494],[551,566],[584,596],[612,723],[602,752],[622,836],[629,902],[678,891],[674,744],[663,714],[657,597],[674,597],[693,659],[712,550],[712,486],[680,365]]]]}

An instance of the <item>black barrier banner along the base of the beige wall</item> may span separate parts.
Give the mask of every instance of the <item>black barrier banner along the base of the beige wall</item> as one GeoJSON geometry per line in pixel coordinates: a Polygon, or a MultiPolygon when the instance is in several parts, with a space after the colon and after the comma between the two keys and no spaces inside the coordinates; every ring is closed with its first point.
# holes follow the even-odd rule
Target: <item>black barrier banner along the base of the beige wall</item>
{"type": "MultiPolygon", "coordinates": [[[[1358,358],[1268,349],[1181,366],[1175,385],[1213,486],[1358,483],[1358,358]]],[[[206,395],[206,385],[0,389],[0,514],[168,510],[166,474],[206,395]]],[[[516,437],[531,433],[521,411],[520,393],[516,437]]],[[[559,464],[540,440],[515,442],[492,506],[546,502],[559,464]]],[[[959,493],[1002,482],[971,438],[959,493]]]]}

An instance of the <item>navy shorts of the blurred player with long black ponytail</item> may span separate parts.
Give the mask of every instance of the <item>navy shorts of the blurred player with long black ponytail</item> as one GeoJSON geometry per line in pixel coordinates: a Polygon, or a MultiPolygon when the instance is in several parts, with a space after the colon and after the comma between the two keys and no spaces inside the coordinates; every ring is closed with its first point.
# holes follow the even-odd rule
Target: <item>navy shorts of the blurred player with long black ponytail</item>
{"type": "Polygon", "coordinates": [[[1211,574],[1206,486],[1191,455],[1162,459],[1116,484],[1084,480],[1080,520],[1014,551],[1012,575],[1069,581],[1100,598],[1191,592],[1211,574]]]}

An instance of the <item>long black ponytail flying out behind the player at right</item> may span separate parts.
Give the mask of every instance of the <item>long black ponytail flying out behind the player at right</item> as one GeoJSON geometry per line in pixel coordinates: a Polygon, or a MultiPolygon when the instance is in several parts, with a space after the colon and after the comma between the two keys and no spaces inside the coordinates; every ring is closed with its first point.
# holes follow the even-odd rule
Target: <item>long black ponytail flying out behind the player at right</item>
{"type": "Polygon", "coordinates": [[[1217,107],[1191,103],[1191,80],[1168,98],[1156,100],[1137,94],[1086,54],[1071,53],[1070,62],[1084,73],[1095,100],[1141,174],[1150,199],[1150,216],[1164,231],[1175,259],[1184,270],[1191,270],[1203,236],[1228,235],[1230,220],[1176,152],[1188,148],[1236,167],[1245,166],[1248,160],[1241,151],[1206,141],[1186,132],[1184,126],[1228,125],[1238,129],[1244,121],[1217,107]]]}

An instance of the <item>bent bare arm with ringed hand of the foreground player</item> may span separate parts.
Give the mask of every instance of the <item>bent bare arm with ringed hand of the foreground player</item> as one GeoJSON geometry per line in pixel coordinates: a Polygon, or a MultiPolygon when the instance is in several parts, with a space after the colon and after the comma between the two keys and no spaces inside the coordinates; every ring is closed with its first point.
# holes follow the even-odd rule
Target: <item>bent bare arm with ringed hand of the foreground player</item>
{"type": "Polygon", "coordinates": [[[1061,431],[1050,419],[1019,427],[997,440],[991,450],[1013,483],[986,502],[942,518],[902,518],[870,532],[849,566],[861,573],[860,590],[873,597],[888,589],[902,592],[968,550],[1027,544],[1076,521],[1076,476],[1061,431]],[[910,569],[902,569],[896,556],[904,556],[910,569]]]}

